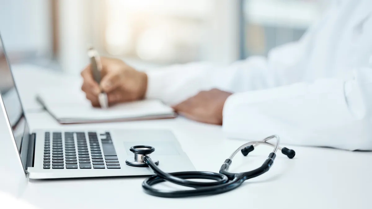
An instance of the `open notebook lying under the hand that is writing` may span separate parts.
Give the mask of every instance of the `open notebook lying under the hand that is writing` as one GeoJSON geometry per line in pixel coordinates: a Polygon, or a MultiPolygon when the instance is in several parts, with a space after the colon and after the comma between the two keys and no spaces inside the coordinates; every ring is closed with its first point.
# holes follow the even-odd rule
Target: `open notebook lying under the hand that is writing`
{"type": "Polygon", "coordinates": [[[174,118],[174,110],[160,100],[127,102],[101,109],[92,107],[82,91],[61,88],[40,90],[37,100],[59,123],[96,123],[174,118]]]}

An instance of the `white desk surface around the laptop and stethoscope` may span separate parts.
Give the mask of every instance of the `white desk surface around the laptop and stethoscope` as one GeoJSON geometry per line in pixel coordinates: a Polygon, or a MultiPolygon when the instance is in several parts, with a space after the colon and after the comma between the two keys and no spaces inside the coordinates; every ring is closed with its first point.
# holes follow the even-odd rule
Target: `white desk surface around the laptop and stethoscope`
{"type": "MultiPolygon", "coordinates": [[[[29,111],[26,116],[31,129],[168,128],[174,132],[196,169],[204,171],[218,172],[219,167],[231,152],[244,143],[224,138],[219,126],[192,122],[184,118],[61,126],[47,112],[41,110],[29,111]]],[[[6,129],[0,127],[1,131],[6,131],[6,129]]],[[[184,199],[153,197],[142,191],[141,183],[144,178],[141,177],[28,180],[23,187],[19,187],[18,195],[39,208],[56,209],[371,208],[369,200],[372,194],[371,152],[307,147],[289,148],[296,151],[294,159],[288,159],[285,155],[278,153],[269,172],[247,180],[236,190],[216,196],[184,199]]],[[[237,155],[230,171],[247,171],[256,168],[262,164],[269,152],[270,148],[257,147],[250,157],[237,155]]],[[[14,153],[9,150],[8,154],[14,153]]],[[[21,177],[18,178],[20,182],[25,181],[21,177]]],[[[1,181],[6,180],[1,178],[1,181]]]]}

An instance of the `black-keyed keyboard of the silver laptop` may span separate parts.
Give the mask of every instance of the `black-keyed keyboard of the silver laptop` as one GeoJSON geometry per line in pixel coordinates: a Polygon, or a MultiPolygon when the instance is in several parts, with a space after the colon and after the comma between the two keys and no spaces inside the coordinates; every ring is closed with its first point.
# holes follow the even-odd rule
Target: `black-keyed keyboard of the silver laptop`
{"type": "Polygon", "coordinates": [[[110,133],[100,136],[103,154],[96,132],[88,132],[88,142],[85,132],[65,132],[64,141],[61,132],[45,132],[44,169],[120,168],[110,133]]]}

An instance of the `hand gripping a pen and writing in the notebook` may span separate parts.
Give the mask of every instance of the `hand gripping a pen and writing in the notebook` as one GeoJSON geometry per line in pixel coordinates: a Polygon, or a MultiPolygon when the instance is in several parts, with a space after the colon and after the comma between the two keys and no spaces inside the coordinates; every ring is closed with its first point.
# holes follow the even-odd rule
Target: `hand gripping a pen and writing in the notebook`
{"type": "Polygon", "coordinates": [[[125,62],[101,57],[102,71],[101,83],[93,79],[90,64],[81,71],[83,85],[81,90],[86,94],[93,106],[99,106],[98,94],[107,93],[109,105],[115,103],[140,100],[145,96],[147,89],[147,75],[137,71],[125,62]]]}

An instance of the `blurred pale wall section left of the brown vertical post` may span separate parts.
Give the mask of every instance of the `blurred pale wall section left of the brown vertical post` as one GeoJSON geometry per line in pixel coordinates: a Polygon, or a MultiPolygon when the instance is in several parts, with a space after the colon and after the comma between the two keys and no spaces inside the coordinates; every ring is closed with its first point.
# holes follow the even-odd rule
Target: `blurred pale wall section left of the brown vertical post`
{"type": "Polygon", "coordinates": [[[0,33],[8,52],[51,55],[49,0],[0,0],[0,33]]]}

